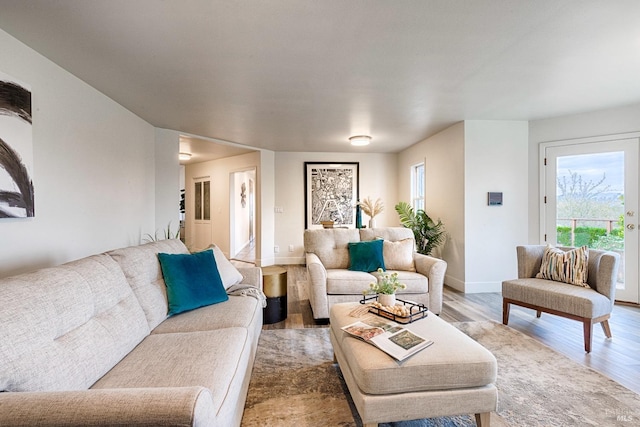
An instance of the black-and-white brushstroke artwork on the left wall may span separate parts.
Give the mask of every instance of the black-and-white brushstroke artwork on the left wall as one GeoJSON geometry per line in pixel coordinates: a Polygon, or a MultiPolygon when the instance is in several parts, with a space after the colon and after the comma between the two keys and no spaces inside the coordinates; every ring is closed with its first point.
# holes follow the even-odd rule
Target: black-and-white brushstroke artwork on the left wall
{"type": "Polygon", "coordinates": [[[0,218],[35,216],[31,88],[0,73],[0,218]]]}

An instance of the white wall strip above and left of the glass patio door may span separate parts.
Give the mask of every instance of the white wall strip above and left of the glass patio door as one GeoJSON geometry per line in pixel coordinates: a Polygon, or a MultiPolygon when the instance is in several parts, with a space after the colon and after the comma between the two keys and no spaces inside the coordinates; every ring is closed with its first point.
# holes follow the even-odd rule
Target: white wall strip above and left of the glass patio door
{"type": "Polygon", "coordinates": [[[640,104],[529,122],[529,243],[540,243],[540,143],[637,131],[640,104]]]}

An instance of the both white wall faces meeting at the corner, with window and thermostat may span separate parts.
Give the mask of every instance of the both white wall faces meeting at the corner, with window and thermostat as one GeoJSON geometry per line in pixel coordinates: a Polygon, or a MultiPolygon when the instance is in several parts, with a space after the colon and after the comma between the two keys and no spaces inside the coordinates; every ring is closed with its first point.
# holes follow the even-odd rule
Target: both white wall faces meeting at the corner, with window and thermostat
{"type": "Polygon", "coordinates": [[[410,167],[425,159],[425,211],[448,234],[440,252],[445,283],[463,292],[497,292],[515,277],[516,244],[527,234],[527,122],[457,123],[399,155],[401,198],[410,198],[410,167]],[[487,192],[505,204],[487,206],[487,192]]]}

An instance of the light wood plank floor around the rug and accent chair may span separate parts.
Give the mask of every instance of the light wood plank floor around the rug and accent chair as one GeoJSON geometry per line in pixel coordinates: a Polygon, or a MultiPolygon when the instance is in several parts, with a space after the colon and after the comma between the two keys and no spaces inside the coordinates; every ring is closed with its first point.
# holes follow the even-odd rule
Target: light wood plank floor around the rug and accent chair
{"type": "MultiPolygon", "coordinates": [[[[287,269],[287,319],[264,325],[263,329],[326,327],[326,322],[314,321],[306,290],[299,286],[306,281],[305,267],[284,267],[287,269]]],[[[502,296],[499,293],[463,294],[445,286],[440,316],[449,322],[502,322],[502,296]]],[[[535,311],[517,306],[511,306],[509,317],[510,327],[640,393],[640,308],[616,304],[609,324],[613,339],[607,340],[602,328],[596,325],[591,353],[585,353],[582,324],[577,321],[545,313],[537,319],[535,311]]]]}

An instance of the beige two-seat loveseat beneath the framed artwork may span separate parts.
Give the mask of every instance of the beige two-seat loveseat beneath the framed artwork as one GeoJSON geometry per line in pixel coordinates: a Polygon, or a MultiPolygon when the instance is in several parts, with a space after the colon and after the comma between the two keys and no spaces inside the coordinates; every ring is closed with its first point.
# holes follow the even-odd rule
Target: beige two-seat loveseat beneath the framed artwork
{"type": "Polygon", "coordinates": [[[406,289],[397,297],[425,304],[433,313],[442,310],[442,287],[447,263],[415,252],[413,232],[404,227],[305,230],[304,248],[309,301],[315,319],[329,317],[339,302],[362,299],[362,291],[378,280],[375,271],[350,270],[349,243],[383,239],[388,272],[396,271],[406,289]]]}

